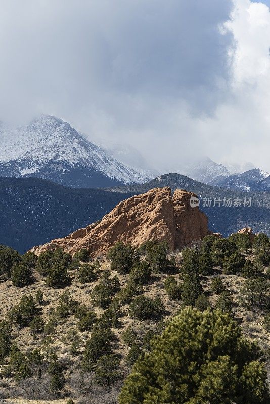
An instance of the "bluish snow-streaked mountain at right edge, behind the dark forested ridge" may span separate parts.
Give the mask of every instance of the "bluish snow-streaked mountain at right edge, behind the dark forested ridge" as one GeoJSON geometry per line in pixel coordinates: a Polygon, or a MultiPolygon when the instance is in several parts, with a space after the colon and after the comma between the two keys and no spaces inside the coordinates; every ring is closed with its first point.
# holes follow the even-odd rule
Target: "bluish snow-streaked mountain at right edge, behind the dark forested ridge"
{"type": "Polygon", "coordinates": [[[255,168],[242,174],[231,175],[219,181],[217,186],[239,191],[269,191],[270,174],[255,168]]]}

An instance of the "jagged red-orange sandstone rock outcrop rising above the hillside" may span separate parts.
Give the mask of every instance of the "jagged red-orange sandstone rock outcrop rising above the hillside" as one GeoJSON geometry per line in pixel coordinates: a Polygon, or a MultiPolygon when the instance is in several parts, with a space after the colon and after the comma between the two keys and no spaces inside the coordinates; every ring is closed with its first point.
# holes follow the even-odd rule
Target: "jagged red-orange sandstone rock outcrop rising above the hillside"
{"type": "Polygon", "coordinates": [[[97,223],[76,230],[67,237],[52,240],[31,251],[63,248],[74,254],[87,248],[93,257],[105,254],[117,241],[139,246],[147,240],[167,241],[171,250],[188,246],[208,234],[208,219],[191,207],[192,192],[154,188],[120,202],[97,223]]]}

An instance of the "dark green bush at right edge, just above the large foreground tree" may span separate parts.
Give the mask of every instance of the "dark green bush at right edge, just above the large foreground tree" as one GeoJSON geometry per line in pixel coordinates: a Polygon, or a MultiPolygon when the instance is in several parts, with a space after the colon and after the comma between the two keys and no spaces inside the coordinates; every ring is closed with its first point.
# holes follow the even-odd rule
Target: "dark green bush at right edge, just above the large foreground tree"
{"type": "Polygon", "coordinates": [[[245,280],[240,289],[240,302],[252,309],[254,307],[263,308],[269,298],[269,284],[262,276],[252,276],[245,280]]]}

